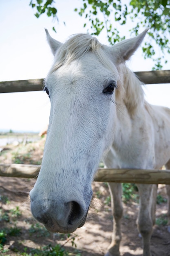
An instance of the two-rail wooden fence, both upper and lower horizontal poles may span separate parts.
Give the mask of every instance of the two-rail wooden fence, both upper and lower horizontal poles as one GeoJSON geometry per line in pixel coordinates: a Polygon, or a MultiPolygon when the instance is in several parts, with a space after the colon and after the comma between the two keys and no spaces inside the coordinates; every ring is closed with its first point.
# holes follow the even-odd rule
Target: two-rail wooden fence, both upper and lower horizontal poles
{"type": "MultiPolygon", "coordinates": [[[[145,84],[170,83],[170,70],[135,72],[145,84]]],[[[43,79],[0,82],[0,93],[40,91],[43,79]]],[[[0,164],[0,176],[34,178],[40,165],[0,164]]],[[[95,181],[143,184],[170,184],[170,170],[99,168],[95,181]]]]}

